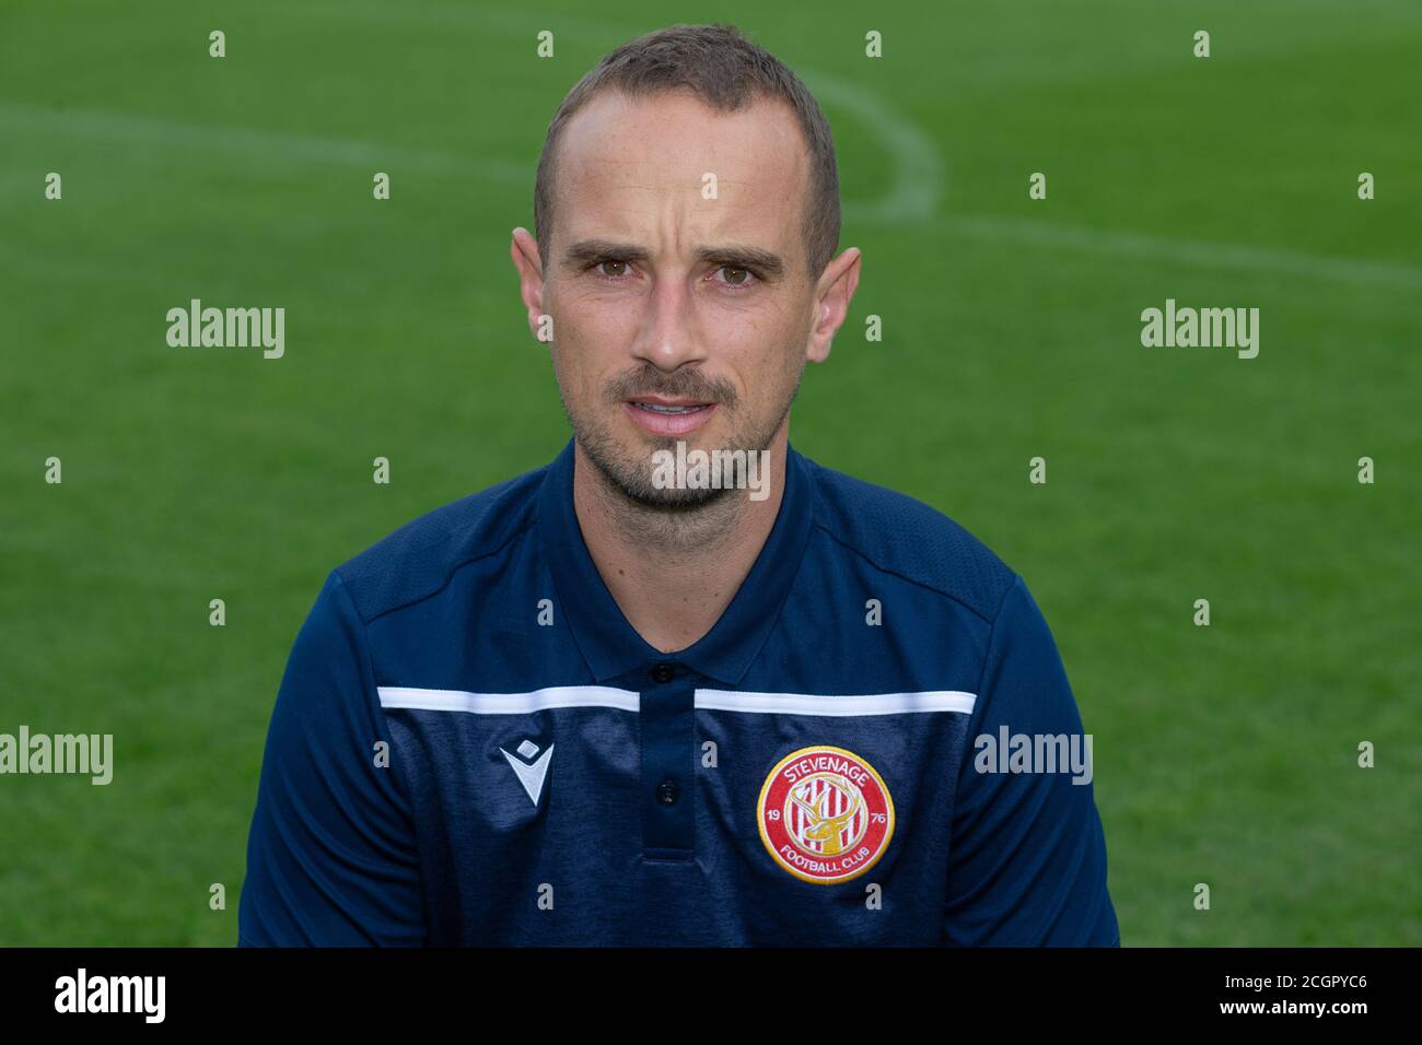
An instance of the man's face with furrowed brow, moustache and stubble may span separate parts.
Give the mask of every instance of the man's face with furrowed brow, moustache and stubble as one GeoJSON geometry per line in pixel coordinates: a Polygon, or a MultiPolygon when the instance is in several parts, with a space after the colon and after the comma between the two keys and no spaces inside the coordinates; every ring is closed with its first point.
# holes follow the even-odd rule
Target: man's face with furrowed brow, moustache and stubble
{"type": "Polygon", "coordinates": [[[761,451],[784,424],[815,357],[808,171],[792,111],[765,100],[610,91],[565,128],[542,306],[574,436],[634,500],[727,493],[657,489],[653,452],[761,451]]]}

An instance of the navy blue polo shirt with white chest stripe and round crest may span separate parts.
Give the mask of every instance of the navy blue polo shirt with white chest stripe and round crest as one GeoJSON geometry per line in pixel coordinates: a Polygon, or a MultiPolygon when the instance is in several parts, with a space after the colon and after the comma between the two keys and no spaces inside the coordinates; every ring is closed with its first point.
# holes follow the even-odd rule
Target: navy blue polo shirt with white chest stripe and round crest
{"type": "Polygon", "coordinates": [[[947,516],[791,448],[744,584],[660,653],[570,441],[327,577],[239,943],[1118,944],[1089,773],[1018,735],[1084,738],[1021,577],[947,516]]]}

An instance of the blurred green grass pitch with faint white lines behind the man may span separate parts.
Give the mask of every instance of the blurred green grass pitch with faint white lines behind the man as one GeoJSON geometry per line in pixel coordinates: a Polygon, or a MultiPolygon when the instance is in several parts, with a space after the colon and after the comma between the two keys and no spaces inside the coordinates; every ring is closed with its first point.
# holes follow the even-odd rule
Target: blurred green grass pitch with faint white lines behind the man
{"type": "Polygon", "coordinates": [[[792,442],[1027,577],[1123,943],[1422,944],[1413,0],[0,6],[0,732],[117,762],[0,778],[0,944],[235,943],[326,573],[567,439],[509,230],[563,94],[678,20],[825,105],[865,267],[792,442]],[[286,357],[169,348],[191,297],[286,307],[286,357]],[[1167,297],[1258,307],[1258,358],[1142,348],[1167,297]]]}

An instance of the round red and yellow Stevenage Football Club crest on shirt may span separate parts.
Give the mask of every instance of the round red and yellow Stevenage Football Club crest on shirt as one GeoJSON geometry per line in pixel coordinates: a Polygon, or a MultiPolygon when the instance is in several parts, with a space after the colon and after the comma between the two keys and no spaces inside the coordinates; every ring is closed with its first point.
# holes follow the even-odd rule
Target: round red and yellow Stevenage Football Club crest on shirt
{"type": "Polygon", "coordinates": [[[863,874],[883,856],[893,836],[893,799],[859,755],[816,744],[771,769],[755,819],[781,867],[830,886],[863,874]]]}

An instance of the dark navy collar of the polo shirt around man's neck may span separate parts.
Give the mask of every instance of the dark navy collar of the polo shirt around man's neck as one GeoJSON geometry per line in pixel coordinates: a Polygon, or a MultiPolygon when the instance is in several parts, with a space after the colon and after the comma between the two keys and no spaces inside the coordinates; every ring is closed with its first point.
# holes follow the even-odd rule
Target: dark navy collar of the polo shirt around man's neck
{"type": "Polygon", "coordinates": [[[809,540],[815,479],[806,461],[786,445],[775,525],[720,620],[685,650],[661,653],[627,623],[583,542],[573,509],[573,446],[569,439],[543,476],[538,527],[563,618],[596,680],[603,682],[648,663],[674,663],[737,685],[779,620],[809,540]]]}

